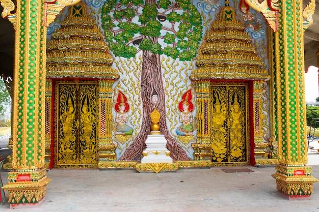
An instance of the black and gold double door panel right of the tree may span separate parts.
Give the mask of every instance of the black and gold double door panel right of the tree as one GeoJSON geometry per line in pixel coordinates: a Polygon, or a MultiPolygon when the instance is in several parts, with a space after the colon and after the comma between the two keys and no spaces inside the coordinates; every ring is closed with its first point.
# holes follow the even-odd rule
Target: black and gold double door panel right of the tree
{"type": "Polygon", "coordinates": [[[211,162],[250,164],[247,84],[212,85],[211,162]]]}

